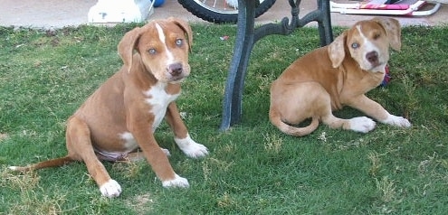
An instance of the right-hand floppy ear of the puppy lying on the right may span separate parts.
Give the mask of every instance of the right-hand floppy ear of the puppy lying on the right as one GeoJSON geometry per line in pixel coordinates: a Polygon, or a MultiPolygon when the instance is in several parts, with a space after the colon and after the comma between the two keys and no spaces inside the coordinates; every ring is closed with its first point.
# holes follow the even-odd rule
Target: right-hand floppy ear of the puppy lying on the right
{"type": "Polygon", "coordinates": [[[389,44],[392,49],[400,51],[401,49],[401,27],[400,23],[393,18],[376,17],[373,21],[381,24],[386,31],[389,44]]]}

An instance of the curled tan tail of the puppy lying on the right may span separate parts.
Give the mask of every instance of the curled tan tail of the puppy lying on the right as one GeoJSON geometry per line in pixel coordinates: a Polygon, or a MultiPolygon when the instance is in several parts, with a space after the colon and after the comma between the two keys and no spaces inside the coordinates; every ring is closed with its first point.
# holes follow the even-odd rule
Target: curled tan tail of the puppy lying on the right
{"type": "Polygon", "coordinates": [[[274,126],[277,126],[281,132],[290,135],[290,136],[307,136],[310,135],[311,132],[316,130],[319,126],[319,118],[312,117],[311,123],[309,126],[304,127],[295,127],[290,126],[283,121],[281,121],[280,113],[275,109],[271,109],[269,111],[269,119],[274,126]]]}

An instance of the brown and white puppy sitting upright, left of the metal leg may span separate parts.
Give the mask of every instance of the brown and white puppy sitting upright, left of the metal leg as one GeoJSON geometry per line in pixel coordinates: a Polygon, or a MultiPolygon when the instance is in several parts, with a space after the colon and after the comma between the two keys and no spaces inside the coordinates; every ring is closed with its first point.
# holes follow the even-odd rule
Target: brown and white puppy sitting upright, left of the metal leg
{"type": "Polygon", "coordinates": [[[116,197],[118,182],[101,160],[120,161],[144,156],[164,187],[188,187],[174,171],[167,150],[157,145],[154,132],[162,119],[172,128],[176,145],[189,157],[208,154],[188,135],[176,107],[180,82],[190,74],[188,51],[192,31],[183,20],[169,18],[147,23],[126,33],[118,45],[123,67],[97,89],[68,119],[65,157],[16,171],[59,166],[71,161],[87,165],[103,196],[116,197]],[[137,149],[141,152],[135,152],[137,149]]]}

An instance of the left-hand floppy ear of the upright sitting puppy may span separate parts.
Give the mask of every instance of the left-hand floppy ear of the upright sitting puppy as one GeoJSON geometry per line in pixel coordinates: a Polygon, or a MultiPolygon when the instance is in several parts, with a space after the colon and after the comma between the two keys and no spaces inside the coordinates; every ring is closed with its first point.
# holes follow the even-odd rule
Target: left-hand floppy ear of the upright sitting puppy
{"type": "Polygon", "coordinates": [[[132,55],[141,32],[141,29],[136,27],[128,33],[125,33],[119,42],[119,56],[121,57],[121,60],[123,60],[124,65],[128,68],[128,72],[132,66],[132,55]]]}

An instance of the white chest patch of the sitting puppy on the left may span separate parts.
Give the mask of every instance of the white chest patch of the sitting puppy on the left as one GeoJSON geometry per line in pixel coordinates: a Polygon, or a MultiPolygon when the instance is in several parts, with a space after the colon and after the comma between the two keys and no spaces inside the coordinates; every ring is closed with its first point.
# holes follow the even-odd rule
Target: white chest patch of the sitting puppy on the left
{"type": "Polygon", "coordinates": [[[151,106],[149,111],[154,115],[154,122],[151,128],[153,132],[165,117],[169,103],[176,100],[179,96],[179,94],[167,94],[165,91],[166,87],[166,83],[157,82],[156,85],[143,92],[147,97],[145,101],[151,106]]]}

